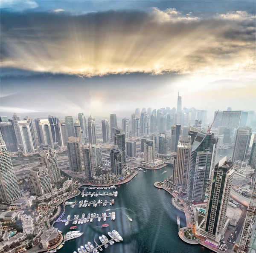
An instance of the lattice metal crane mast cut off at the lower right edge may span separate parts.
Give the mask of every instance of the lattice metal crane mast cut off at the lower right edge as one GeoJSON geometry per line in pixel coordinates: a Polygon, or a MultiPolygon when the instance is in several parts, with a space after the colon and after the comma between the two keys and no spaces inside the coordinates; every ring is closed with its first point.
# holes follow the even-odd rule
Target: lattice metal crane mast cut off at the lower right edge
{"type": "Polygon", "coordinates": [[[253,193],[250,198],[249,207],[244,220],[244,227],[241,234],[238,253],[248,253],[251,246],[251,236],[256,218],[256,184],[253,185],[253,193]]]}

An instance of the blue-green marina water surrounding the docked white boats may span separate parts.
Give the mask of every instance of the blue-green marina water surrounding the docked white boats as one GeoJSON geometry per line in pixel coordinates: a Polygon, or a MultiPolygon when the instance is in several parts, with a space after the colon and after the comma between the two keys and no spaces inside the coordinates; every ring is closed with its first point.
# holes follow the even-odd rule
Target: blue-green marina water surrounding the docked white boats
{"type": "MultiPolygon", "coordinates": [[[[148,170],[147,173],[139,171],[139,174],[134,177],[128,184],[123,184],[117,187],[118,196],[114,198],[115,204],[111,207],[109,204],[106,207],[97,205],[97,207],[66,207],[66,213],[63,219],[67,219],[67,215],[71,215],[71,219],[75,214],[81,213],[105,213],[105,210],[110,208],[116,212],[115,221],[107,218],[107,221],[98,222],[96,219],[92,223],[76,225],[77,230],[84,234],[75,239],[73,242],[66,242],[58,253],[72,253],[82,244],[88,241],[93,242],[93,238],[100,244],[99,236],[105,234],[108,236],[108,231],[117,230],[123,237],[123,242],[109,245],[107,249],[103,247],[102,253],[209,253],[210,250],[200,245],[189,245],[180,240],[178,236],[178,227],[176,216],[180,215],[181,227],[186,225],[184,213],[175,209],[172,206],[172,196],[165,190],[154,187],[155,181],[162,181],[167,176],[172,175],[172,165],[168,165],[161,170],[148,170]],[[163,173],[167,170],[166,173],[163,173]],[[128,220],[130,216],[133,221],[128,220]],[[109,224],[109,227],[101,228],[101,224],[109,224]]],[[[96,190],[88,190],[96,191],[96,190]]],[[[103,193],[110,190],[97,190],[103,193]]],[[[86,192],[86,191],[85,191],[86,192]]],[[[87,199],[88,201],[99,199],[108,201],[113,197],[98,196],[81,198],[81,195],[76,197],[77,201],[87,199]]],[[[73,199],[74,200],[74,199],[73,199]]],[[[109,212],[106,212],[109,213],[109,212]]],[[[55,223],[55,227],[63,233],[67,233],[70,224],[65,227],[64,223],[55,223]]]]}

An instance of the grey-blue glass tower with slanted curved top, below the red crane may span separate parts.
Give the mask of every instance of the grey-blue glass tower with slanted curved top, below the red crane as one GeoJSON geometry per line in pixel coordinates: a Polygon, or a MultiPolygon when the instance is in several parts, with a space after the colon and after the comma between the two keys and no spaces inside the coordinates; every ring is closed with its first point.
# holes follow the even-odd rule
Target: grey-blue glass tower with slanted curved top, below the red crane
{"type": "MultiPolygon", "coordinates": [[[[189,135],[193,132],[189,131],[189,135]]],[[[190,135],[191,136],[191,135],[190,135]]],[[[212,135],[198,132],[191,147],[188,177],[188,196],[195,201],[205,199],[209,173],[212,168],[212,135]]]]}

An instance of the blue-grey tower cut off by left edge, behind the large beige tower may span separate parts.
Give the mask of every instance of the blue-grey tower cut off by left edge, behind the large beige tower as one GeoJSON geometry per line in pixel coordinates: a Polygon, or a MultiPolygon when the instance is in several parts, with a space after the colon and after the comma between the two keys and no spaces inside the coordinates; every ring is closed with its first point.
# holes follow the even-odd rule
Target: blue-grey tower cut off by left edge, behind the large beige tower
{"type": "MultiPolygon", "coordinates": [[[[0,131],[2,134],[2,138],[6,144],[7,150],[9,152],[17,152],[18,149],[12,122],[0,122],[0,131]]],[[[17,131],[19,131],[18,128],[17,131]]]]}

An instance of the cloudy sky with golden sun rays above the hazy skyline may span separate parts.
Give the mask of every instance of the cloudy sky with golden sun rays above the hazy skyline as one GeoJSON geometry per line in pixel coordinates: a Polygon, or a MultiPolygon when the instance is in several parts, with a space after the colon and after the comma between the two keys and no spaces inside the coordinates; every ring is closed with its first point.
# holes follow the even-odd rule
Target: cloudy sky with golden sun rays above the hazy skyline
{"type": "Polygon", "coordinates": [[[178,91],[183,107],[256,109],[255,1],[0,7],[1,114],[129,116],[178,91]]]}

